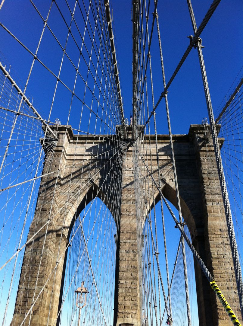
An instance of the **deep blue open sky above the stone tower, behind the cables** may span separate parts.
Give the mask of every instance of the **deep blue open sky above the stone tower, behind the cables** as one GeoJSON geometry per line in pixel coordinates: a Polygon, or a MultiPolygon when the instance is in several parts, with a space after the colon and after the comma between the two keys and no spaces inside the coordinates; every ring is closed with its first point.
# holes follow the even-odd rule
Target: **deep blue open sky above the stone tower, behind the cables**
{"type": "MultiPolygon", "coordinates": [[[[46,1],[42,0],[37,0],[34,3],[43,14],[43,17],[45,17],[49,2],[48,5],[46,1]]],[[[62,2],[58,3],[61,4],[62,2]]],[[[211,1],[209,0],[192,1],[197,26],[199,26],[205,16],[210,4],[211,1]]],[[[132,110],[131,1],[113,1],[112,8],[124,110],[126,117],[129,118],[130,110],[132,110]]],[[[152,11],[151,9],[150,22],[152,22],[153,17],[152,11]]],[[[158,15],[166,81],[168,82],[189,44],[187,36],[193,34],[193,29],[185,0],[158,1],[158,15]]],[[[29,1],[6,0],[0,11],[0,21],[14,35],[19,37],[32,52],[35,51],[43,23],[40,22],[29,1]]],[[[243,65],[242,22],[243,2],[240,0],[222,0],[201,34],[202,44],[205,46],[203,55],[214,112],[243,65]]],[[[55,16],[54,21],[52,21],[52,25],[54,24],[55,16]]],[[[64,41],[64,37],[61,36],[61,27],[60,31],[56,28],[55,32],[64,41]]],[[[3,28],[0,28],[0,38],[0,50],[22,82],[25,83],[32,56],[21,48],[3,28]]],[[[44,51],[41,49],[38,57],[41,60],[43,59],[44,63],[47,63],[53,70],[57,71],[59,65],[57,52],[48,43],[45,44],[44,42],[44,46],[50,47],[49,56],[45,57],[44,51]]],[[[163,88],[156,31],[153,36],[151,54],[155,101],[157,101],[163,88]]],[[[47,113],[49,111],[51,94],[53,93],[48,93],[46,85],[48,79],[51,82],[52,77],[39,64],[36,64],[34,69],[28,89],[39,103],[41,109],[47,113]]],[[[207,116],[200,67],[195,49],[191,50],[181,70],[169,87],[168,100],[173,133],[187,133],[190,124],[201,123],[201,120],[207,116]]],[[[157,109],[156,119],[163,121],[164,111],[165,105],[163,100],[157,109]]],[[[54,108],[52,120],[58,117],[58,115],[60,118],[60,106],[59,109],[56,108],[56,111],[54,108]]],[[[62,123],[65,123],[65,119],[65,117],[62,117],[62,123]]],[[[167,133],[166,124],[160,124],[158,133],[167,133]]]]}

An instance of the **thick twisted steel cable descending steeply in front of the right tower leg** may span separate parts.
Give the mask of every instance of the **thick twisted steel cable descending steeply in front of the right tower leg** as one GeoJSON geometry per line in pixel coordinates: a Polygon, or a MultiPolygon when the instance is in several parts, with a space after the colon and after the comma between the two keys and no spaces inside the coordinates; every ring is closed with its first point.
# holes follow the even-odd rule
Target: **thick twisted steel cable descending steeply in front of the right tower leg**
{"type": "MultiPolygon", "coordinates": [[[[192,20],[194,33],[196,35],[196,33],[197,33],[196,21],[195,21],[194,13],[192,10],[191,0],[187,0],[187,3],[188,3],[189,11],[190,11],[190,16],[191,16],[191,20],[192,20]]],[[[207,108],[208,108],[208,113],[209,113],[209,122],[210,122],[210,128],[211,128],[211,134],[212,134],[212,140],[213,140],[213,147],[214,147],[214,152],[215,152],[215,156],[216,156],[217,168],[218,168],[218,172],[219,172],[219,180],[220,180],[220,186],[221,186],[221,191],[222,191],[222,196],[223,196],[223,205],[224,205],[227,227],[228,227],[228,232],[229,232],[229,240],[230,240],[230,246],[231,246],[231,250],[232,250],[234,269],[235,269],[235,274],[236,274],[236,284],[237,284],[237,290],[238,290],[238,296],[239,296],[239,302],[240,302],[241,318],[243,319],[243,282],[242,282],[241,266],[240,266],[240,262],[239,262],[239,255],[238,255],[238,251],[237,251],[236,236],[235,236],[234,225],[233,225],[232,215],[231,215],[231,210],[230,210],[230,203],[229,203],[229,198],[228,198],[228,192],[227,192],[227,187],[226,187],[226,182],[225,182],[225,177],[224,177],[224,172],[223,172],[222,159],[221,159],[221,155],[220,155],[219,142],[218,142],[217,131],[216,131],[215,122],[214,122],[214,115],[213,115],[211,98],[210,98],[210,94],[209,94],[209,85],[208,85],[204,60],[203,60],[202,48],[201,48],[200,42],[197,42],[196,45],[197,45],[197,52],[198,52],[198,57],[199,57],[199,62],[200,62],[201,73],[202,73],[204,93],[205,93],[207,108]]]]}

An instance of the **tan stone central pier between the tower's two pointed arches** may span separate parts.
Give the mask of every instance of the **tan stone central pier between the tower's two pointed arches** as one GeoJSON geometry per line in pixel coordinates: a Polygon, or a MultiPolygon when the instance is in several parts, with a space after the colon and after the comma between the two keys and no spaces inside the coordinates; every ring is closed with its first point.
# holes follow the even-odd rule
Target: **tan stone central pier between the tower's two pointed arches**
{"type": "Polygon", "coordinates": [[[123,323],[140,326],[137,222],[132,146],[123,166],[121,219],[116,253],[114,326],[123,323]]]}

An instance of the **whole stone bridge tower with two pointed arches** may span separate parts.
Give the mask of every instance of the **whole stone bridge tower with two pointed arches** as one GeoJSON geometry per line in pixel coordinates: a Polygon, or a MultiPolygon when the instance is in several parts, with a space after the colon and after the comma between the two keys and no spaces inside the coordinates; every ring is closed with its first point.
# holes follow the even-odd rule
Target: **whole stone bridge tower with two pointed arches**
{"type": "MultiPolygon", "coordinates": [[[[204,141],[205,129],[201,125],[191,125],[187,135],[174,135],[174,152],[178,173],[182,216],[188,226],[193,245],[207,265],[216,283],[225,291],[226,300],[236,307],[240,316],[239,303],[227,292],[233,286],[236,293],[231,249],[225,222],[223,200],[216,167],[214,150],[204,141]],[[229,264],[230,271],[225,266],[229,264]],[[234,301],[234,302],[233,302],[234,301]]],[[[44,164],[43,174],[55,171],[51,176],[41,180],[38,203],[30,227],[31,238],[36,230],[43,229],[26,246],[20,283],[11,325],[20,325],[27,311],[31,309],[30,326],[47,325],[51,301],[49,325],[57,319],[61,306],[66,255],[64,254],[56,268],[56,277],[52,292],[53,279],[49,275],[56,266],[59,245],[61,252],[69,243],[74,225],[74,218],[95,196],[101,198],[109,208],[117,224],[116,272],[114,326],[128,324],[141,325],[141,295],[139,293],[139,252],[137,245],[137,222],[135,202],[135,181],[133,171],[132,142],[124,141],[122,147],[123,162],[117,162],[116,151],[112,147],[111,137],[103,136],[102,146],[99,136],[76,136],[71,127],[58,129],[58,143],[51,167],[44,164]],[[74,148],[75,160],[74,160],[74,148]],[[109,153],[106,156],[102,151],[109,153]],[[93,153],[97,158],[92,161],[93,153]],[[85,156],[85,161],[84,161],[85,156]],[[113,170],[105,168],[106,160],[112,161],[113,170]],[[71,166],[75,164],[74,168],[71,166]],[[58,167],[60,169],[58,170],[58,167]],[[64,169],[65,168],[65,169],[64,169]],[[118,184],[104,185],[111,180],[110,173],[117,175],[118,184]],[[72,174],[72,180],[70,182],[72,174]],[[57,185],[55,186],[55,183],[57,185]],[[104,185],[101,187],[101,185],[104,185]],[[117,187],[121,190],[116,201],[111,199],[117,187]],[[55,189],[55,191],[54,191],[55,189]],[[44,191],[45,190],[45,191],[44,191]],[[52,200],[54,198],[54,200],[52,200]],[[120,221],[116,209],[120,207],[120,221]],[[50,216],[50,210],[52,216],[50,216]],[[65,218],[64,218],[65,217],[65,218]],[[51,218],[51,220],[50,220],[51,218]],[[48,220],[50,220],[48,222],[48,220]],[[64,224],[64,228],[62,228],[64,224]],[[47,229],[48,228],[48,229],[47,229]],[[64,230],[61,232],[61,230],[64,230]],[[43,248],[44,238],[45,246],[43,248]],[[46,284],[46,285],[45,285],[46,284]],[[34,293],[41,291],[33,305],[34,293]]],[[[158,152],[160,160],[160,178],[164,196],[176,207],[176,193],[171,162],[168,135],[158,135],[158,152]]],[[[223,140],[219,140],[221,143],[223,140]]],[[[152,156],[155,180],[158,182],[155,136],[151,136],[151,147],[147,148],[152,156]]],[[[46,157],[48,152],[46,152],[46,157]]],[[[152,180],[150,186],[153,187],[152,180]]],[[[159,193],[154,188],[156,202],[159,193]]],[[[152,191],[150,191],[152,193],[152,191]]],[[[150,207],[153,206],[151,198],[150,207]]],[[[66,251],[67,252],[67,251],[66,251]]],[[[209,283],[195,262],[196,291],[200,326],[223,326],[229,324],[227,314],[211,290],[209,283]]],[[[25,324],[29,322],[30,314],[25,324]]],[[[57,319],[57,325],[59,319],[57,319]]]]}

